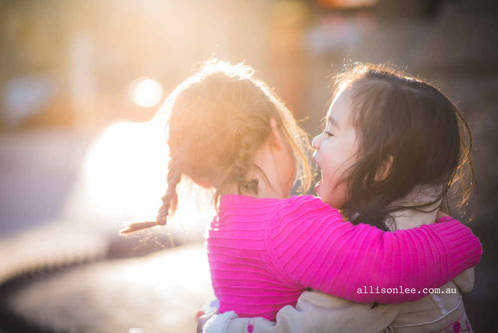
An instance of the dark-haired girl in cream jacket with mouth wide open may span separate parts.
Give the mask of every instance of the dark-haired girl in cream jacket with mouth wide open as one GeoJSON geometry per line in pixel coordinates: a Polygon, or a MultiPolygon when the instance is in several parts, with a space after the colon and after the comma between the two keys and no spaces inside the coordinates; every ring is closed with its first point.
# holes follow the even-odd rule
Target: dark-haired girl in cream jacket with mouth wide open
{"type": "MultiPolygon", "coordinates": [[[[448,202],[456,201],[458,196],[457,206],[464,207],[474,180],[470,159],[472,137],[455,104],[432,85],[383,66],[356,64],[335,79],[325,129],[313,140],[313,160],[322,173],[315,187],[320,198],[340,209],[358,227],[369,224],[381,230],[401,231],[436,219],[436,222],[455,221],[438,213],[438,209],[448,209],[448,202]],[[450,188],[456,195],[453,198],[449,197],[450,188]]],[[[273,226],[278,232],[282,232],[281,220],[273,226]]],[[[430,226],[434,225],[437,223],[430,226]]],[[[307,239],[309,237],[302,241],[307,239]]],[[[418,244],[414,240],[410,246],[418,248],[418,244]]],[[[355,241],[348,244],[358,258],[363,258],[363,251],[370,251],[374,257],[378,255],[378,250],[370,245],[363,248],[355,241]]],[[[399,245],[399,255],[403,256],[406,249],[399,245]]],[[[280,243],[275,247],[278,246],[280,243]]],[[[457,246],[463,252],[472,251],[468,244],[457,246]]],[[[306,258],[303,266],[285,263],[280,267],[285,270],[288,265],[290,272],[302,277],[306,276],[303,267],[313,267],[310,262],[318,261],[326,270],[327,259],[317,254],[306,258]]],[[[392,259],[384,257],[384,260],[392,259]]],[[[379,283],[392,277],[392,266],[373,268],[365,264],[370,267],[369,274],[380,277],[379,283]]],[[[438,271],[429,274],[438,274],[438,271]]],[[[411,283],[416,283],[419,277],[412,276],[411,283]]],[[[326,277],[321,275],[321,279],[324,281],[326,277]]],[[[356,279],[353,281],[358,281],[356,279]]],[[[335,277],[331,283],[344,289],[347,281],[335,277]]],[[[444,286],[435,284],[432,289],[415,289],[416,295],[424,296],[414,300],[416,302],[391,306],[344,300],[395,303],[365,298],[388,293],[388,288],[358,286],[357,293],[363,296],[360,299],[320,289],[321,285],[316,288],[310,283],[305,286],[344,299],[305,292],[296,308],[284,307],[278,312],[276,323],[263,318],[235,319],[235,313],[225,312],[210,319],[205,332],[467,333],[472,329],[460,293],[470,292],[473,283],[473,270],[467,270],[444,286]]]]}

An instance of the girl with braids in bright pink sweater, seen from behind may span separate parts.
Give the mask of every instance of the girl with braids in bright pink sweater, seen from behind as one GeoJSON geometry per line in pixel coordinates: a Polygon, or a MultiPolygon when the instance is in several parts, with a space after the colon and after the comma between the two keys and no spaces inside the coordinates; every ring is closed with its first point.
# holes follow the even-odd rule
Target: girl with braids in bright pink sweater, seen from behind
{"type": "MultiPolygon", "coordinates": [[[[317,192],[324,201],[313,196],[287,198],[296,170],[304,188],[309,183],[302,153],[305,135],[274,93],[253,78],[250,68],[207,63],[165,102],[171,160],[157,220],[130,224],[122,232],[164,225],[176,208],[182,174],[215,188],[218,216],[209,232],[208,257],[219,311],[269,320],[283,306],[295,305],[307,288],[364,303],[415,301],[423,297],[418,293],[423,288],[442,286],[476,265],[482,253],[479,240],[457,221],[395,232],[344,222],[336,208],[347,205],[348,216],[357,221],[364,211],[349,205],[349,187],[352,194],[355,188],[336,175],[356,166],[362,157],[355,149],[361,152],[365,147],[355,146],[356,132],[346,127],[344,138],[330,145],[330,126],[339,129],[349,119],[348,103],[342,104],[344,114],[329,117],[323,135],[329,148],[315,155],[323,178],[317,192]],[[353,147],[353,153],[348,155],[343,145],[353,147]],[[364,286],[395,288],[396,293],[358,293],[364,286]]],[[[396,155],[387,150],[385,156],[369,169],[373,174],[360,181],[367,190],[374,180],[390,181],[390,173],[398,169],[396,155]]],[[[425,184],[414,185],[418,183],[425,184]]],[[[427,183],[439,185],[434,179],[427,183]]],[[[395,194],[402,196],[373,201],[385,208],[384,202],[404,197],[403,189],[395,194]]],[[[439,193],[435,196],[439,201],[439,193]]],[[[364,206],[377,207],[369,200],[364,206]]]]}

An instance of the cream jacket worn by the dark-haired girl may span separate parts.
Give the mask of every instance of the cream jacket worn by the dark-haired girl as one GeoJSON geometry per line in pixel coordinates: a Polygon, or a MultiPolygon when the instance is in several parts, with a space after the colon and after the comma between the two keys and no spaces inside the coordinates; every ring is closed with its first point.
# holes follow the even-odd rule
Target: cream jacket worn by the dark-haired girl
{"type": "Polygon", "coordinates": [[[263,318],[237,318],[225,313],[213,317],[204,333],[469,333],[461,293],[474,287],[471,268],[416,302],[359,304],[321,292],[304,292],[296,307],[285,306],[276,323],[263,318]],[[446,293],[447,289],[456,293],[446,293]],[[235,319],[230,319],[235,318],[235,319]],[[211,323],[210,323],[211,322],[211,323]]]}

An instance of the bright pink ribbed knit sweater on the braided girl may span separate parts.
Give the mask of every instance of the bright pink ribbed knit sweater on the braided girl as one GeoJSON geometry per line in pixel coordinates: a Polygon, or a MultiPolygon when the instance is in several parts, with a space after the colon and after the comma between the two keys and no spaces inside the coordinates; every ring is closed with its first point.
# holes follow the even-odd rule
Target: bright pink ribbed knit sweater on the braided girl
{"type": "Polygon", "coordinates": [[[444,285],[481,255],[479,240],[456,220],[383,232],[344,222],[337,209],[308,195],[224,195],[208,238],[220,312],[269,320],[308,287],[362,303],[416,301],[423,288],[444,285]]]}

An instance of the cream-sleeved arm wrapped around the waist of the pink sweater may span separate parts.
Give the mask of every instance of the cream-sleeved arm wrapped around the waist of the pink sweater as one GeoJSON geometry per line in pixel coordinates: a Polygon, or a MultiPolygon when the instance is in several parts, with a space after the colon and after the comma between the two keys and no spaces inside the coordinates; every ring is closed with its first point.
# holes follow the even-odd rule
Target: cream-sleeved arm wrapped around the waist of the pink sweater
{"type": "Polygon", "coordinates": [[[397,305],[358,304],[320,292],[304,292],[295,308],[288,305],[280,309],[276,323],[260,317],[230,319],[230,313],[225,313],[210,319],[210,323],[204,326],[202,332],[378,333],[384,330],[398,313],[397,305]]]}

